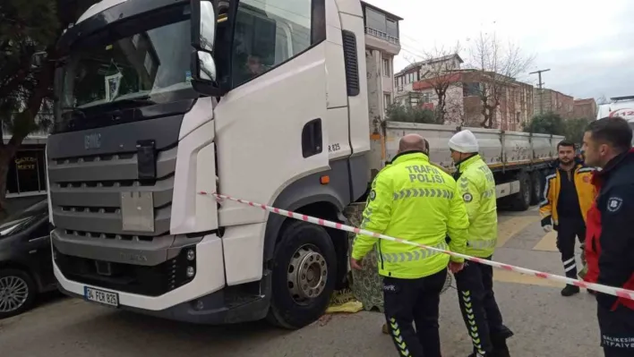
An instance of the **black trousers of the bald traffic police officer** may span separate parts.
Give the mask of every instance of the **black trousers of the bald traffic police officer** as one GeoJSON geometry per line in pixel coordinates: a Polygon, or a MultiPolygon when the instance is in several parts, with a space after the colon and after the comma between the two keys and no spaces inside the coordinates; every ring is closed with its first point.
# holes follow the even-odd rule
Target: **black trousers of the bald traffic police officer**
{"type": "Polygon", "coordinates": [[[441,357],[438,310],[446,278],[447,269],[418,279],[383,278],[385,319],[398,355],[441,357]]]}

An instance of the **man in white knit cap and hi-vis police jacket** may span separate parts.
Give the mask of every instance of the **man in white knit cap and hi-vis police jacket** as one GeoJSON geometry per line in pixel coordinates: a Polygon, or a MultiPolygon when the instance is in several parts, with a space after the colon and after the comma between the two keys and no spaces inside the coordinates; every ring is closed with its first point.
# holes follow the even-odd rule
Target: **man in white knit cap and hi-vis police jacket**
{"type": "MultiPolygon", "coordinates": [[[[479,146],[473,132],[456,133],[449,147],[456,164],[454,178],[459,196],[467,206],[467,255],[491,259],[498,235],[493,173],[478,155],[479,146]]],[[[454,239],[451,234],[450,239],[454,239]]],[[[506,339],[512,332],[502,325],[501,312],[495,302],[493,268],[469,261],[464,267],[452,263],[450,270],[456,277],[460,310],[474,344],[470,357],[509,356],[506,339]]]]}

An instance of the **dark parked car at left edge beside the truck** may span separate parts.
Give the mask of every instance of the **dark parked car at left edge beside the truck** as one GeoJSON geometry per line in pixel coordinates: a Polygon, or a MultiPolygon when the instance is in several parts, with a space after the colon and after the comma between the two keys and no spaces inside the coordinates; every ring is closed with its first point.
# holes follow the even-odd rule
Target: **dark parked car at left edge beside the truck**
{"type": "Polygon", "coordinates": [[[29,310],[38,293],[56,289],[47,200],[0,222],[0,319],[29,310]]]}

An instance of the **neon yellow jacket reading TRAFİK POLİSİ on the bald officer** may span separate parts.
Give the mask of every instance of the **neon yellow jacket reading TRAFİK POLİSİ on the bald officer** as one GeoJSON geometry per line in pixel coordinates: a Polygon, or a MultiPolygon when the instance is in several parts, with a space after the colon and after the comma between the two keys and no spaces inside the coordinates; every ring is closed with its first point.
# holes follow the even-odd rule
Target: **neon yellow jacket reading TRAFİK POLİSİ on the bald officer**
{"type": "MultiPolygon", "coordinates": [[[[467,241],[467,211],[456,194],[456,181],[430,165],[422,152],[394,157],[374,178],[364,209],[362,228],[463,253],[467,241]]],[[[450,256],[400,242],[358,234],[352,258],[363,259],[374,244],[379,254],[379,274],[405,279],[431,276],[447,268],[450,256]]],[[[464,259],[454,259],[462,262],[464,259]]]]}

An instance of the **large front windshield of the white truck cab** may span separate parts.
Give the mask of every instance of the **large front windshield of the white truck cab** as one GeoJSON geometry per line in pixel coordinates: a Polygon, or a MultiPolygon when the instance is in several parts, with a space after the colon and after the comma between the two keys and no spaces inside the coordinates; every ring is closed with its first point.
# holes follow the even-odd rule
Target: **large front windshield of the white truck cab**
{"type": "Polygon", "coordinates": [[[63,112],[119,101],[167,102],[177,91],[193,93],[189,20],[132,33],[130,27],[104,30],[71,53],[64,65],[63,112]]]}

